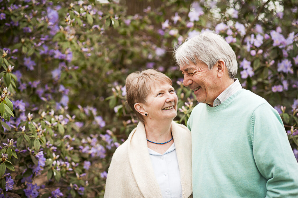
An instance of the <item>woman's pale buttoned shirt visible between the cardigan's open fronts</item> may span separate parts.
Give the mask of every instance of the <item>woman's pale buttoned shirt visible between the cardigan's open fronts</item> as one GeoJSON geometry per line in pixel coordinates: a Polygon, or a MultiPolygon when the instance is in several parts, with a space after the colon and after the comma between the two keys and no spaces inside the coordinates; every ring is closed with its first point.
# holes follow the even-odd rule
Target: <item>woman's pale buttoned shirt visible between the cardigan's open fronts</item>
{"type": "Polygon", "coordinates": [[[154,174],[163,198],[181,198],[182,186],[175,142],[164,154],[148,148],[154,174]]]}

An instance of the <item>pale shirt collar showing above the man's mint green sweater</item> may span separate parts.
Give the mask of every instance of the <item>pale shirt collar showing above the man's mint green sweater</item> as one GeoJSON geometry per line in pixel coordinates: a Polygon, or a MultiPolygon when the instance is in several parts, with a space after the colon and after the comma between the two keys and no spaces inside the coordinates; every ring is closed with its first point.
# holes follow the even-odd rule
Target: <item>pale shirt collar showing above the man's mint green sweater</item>
{"type": "Polygon", "coordinates": [[[238,78],[234,78],[234,82],[229,87],[227,87],[223,92],[221,92],[221,94],[213,101],[213,107],[220,105],[231,95],[238,92],[240,89],[242,89],[242,86],[238,78]]]}

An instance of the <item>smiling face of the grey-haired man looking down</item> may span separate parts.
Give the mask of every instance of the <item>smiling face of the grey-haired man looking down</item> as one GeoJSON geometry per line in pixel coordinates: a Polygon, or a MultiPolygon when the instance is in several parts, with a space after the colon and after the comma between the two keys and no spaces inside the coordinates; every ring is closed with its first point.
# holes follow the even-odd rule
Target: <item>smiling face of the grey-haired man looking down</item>
{"type": "Polygon", "coordinates": [[[193,90],[197,101],[213,106],[213,101],[221,93],[217,83],[217,64],[209,70],[205,63],[195,65],[190,62],[189,65],[180,66],[180,70],[184,75],[183,85],[193,90]]]}

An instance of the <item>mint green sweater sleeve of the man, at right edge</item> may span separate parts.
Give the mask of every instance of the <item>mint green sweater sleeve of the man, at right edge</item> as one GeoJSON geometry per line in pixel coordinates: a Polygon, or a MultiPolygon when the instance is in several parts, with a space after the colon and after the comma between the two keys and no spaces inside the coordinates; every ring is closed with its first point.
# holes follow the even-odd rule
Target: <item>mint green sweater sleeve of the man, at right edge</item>
{"type": "Polygon", "coordinates": [[[298,164],[278,112],[268,103],[252,114],[251,141],[258,170],[267,180],[267,198],[298,196],[298,164]]]}

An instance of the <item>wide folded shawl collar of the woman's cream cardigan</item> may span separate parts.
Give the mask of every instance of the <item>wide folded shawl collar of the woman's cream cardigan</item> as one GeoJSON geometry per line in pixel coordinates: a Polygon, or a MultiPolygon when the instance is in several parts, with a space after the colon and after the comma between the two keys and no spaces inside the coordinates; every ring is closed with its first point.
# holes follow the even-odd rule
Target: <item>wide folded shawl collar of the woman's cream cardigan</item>
{"type": "MultiPolygon", "coordinates": [[[[181,129],[176,122],[173,121],[171,123],[180,169],[182,197],[187,198],[192,193],[191,153],[185,149],[185,145],[190,144],[190,142],[185,138],[185,133],[181,133],[181,129]]],[[[145,126],[142,122],[139,122],[128,137],[128,158],[134,178],[143,196],[148,198],[162,197],[160,190],[156,191],[156,189],[160,188],[153,171],[148,152],[145,126]],[[144,178],[147,178],[147,180],[144,178]]]]}

